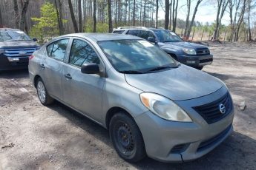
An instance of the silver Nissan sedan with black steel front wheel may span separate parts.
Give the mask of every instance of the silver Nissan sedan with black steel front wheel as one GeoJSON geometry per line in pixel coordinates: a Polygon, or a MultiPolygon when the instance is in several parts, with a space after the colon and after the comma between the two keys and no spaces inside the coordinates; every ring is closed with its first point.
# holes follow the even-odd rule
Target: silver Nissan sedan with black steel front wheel
{"type": "Polygon", "coordinates": [[[65,103],[109,130],[114,149],[136,162],[194,160],[232,133],[225,84],[132,35],[63,35],[30,56],[43,105],[65,103]]]}

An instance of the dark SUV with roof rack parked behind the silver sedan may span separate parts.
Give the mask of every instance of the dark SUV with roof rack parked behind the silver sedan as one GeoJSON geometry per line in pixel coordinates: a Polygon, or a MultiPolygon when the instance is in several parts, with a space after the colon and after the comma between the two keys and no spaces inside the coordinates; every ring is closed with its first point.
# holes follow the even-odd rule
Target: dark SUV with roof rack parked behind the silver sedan
{"type": "Polygon", "coordinates": [[[135,35],[157,44],[180,63],[203,69],[213,61],[208,47],[183,41],[170,30],[146,27],[118,27],[113,33],[135,35]]]}

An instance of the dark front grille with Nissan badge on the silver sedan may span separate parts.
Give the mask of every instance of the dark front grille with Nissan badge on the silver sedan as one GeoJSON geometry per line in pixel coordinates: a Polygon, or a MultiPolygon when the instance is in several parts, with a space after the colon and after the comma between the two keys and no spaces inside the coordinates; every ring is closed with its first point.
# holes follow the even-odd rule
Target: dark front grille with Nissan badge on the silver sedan
{"type": "Polygon", "coordinates": [[[222,118],[225,118],[232,112],[233,105],[232,99],[229,95],[229,92],[226,93],[222,98],[218,99],[217,101],[202,105],[202,106],[195,106],[193,107],[205,120],[207,123],[215,123],[222,118]],[[226,112],[220,112],[220,104],[223,104],[226,108],[226,112]]]}

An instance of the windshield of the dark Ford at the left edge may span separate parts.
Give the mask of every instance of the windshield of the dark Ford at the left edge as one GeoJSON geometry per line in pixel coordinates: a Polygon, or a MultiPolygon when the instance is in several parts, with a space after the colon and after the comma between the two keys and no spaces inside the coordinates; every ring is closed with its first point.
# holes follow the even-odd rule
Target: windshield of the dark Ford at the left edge
{"type": "Polygon", "coordinates": [[[0,30],[0,41],[31,41],[31,39],[20,30],[0,30]]]}

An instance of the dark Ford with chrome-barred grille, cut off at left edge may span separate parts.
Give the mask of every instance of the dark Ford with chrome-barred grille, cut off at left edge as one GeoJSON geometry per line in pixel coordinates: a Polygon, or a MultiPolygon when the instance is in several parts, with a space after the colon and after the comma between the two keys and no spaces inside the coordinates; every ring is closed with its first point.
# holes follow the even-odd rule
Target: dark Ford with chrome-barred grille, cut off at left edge
{"type": "Polygon", "coordinates": [[[39,45],[21,30],[0,28],[0,71],[26,69],[39,45]]]}

